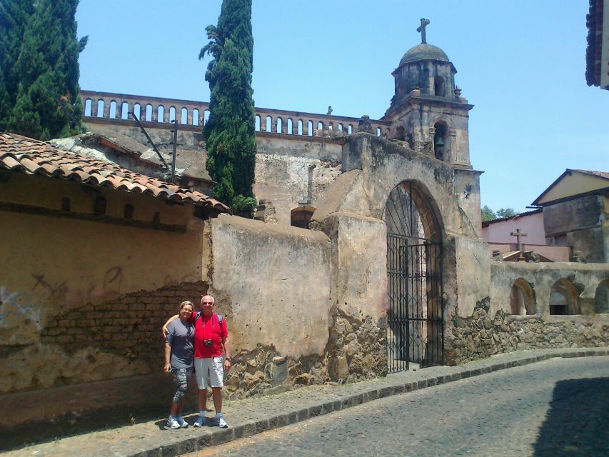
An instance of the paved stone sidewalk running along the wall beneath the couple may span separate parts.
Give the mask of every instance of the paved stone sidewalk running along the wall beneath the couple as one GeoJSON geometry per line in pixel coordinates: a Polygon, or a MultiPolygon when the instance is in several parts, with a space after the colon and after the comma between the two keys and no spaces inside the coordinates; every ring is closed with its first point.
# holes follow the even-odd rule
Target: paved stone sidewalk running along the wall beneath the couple
{"type": "MultiPolygon", "coordinates": [[[[461,366],[435,366],[395,373],[386,378],[338,386],[309,386],[274,396],[226,401],[223,412],[228,428],[166,429],[166,418],[133,426],[86,433],[51,443],[9,451],[16,456],[168,457],[198,451],[262,431],[304,421],[314,416],[340,411],[367,401],[398,393],[458,381],[491,371],[527,365],[553,357],[608,356],[609,347],[516,351],[461,366]]],[[[209,413],[211,416],[211,413],[209,413]]],[[[196,416],[187,417],[192,423],[196,416]]],[[[35,433],[35,431],[34,431],[35,433]]]]}

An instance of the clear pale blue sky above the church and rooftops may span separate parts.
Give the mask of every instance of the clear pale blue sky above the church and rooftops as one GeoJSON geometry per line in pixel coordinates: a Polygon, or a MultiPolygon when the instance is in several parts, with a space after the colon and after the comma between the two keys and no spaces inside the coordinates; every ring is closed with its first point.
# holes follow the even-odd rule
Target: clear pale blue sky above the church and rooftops
{"type": "MultiPolygon", "coordinates": [[[[221,0],[81,0],[83,90],[209,101],[221,0]]],[[[253,0],[256,107],[380,119],[401,57],[456,66],[482,205],[528,211],[565,169],[609,171],[609,91],[585,84],[588,0],[253,0]]]]}

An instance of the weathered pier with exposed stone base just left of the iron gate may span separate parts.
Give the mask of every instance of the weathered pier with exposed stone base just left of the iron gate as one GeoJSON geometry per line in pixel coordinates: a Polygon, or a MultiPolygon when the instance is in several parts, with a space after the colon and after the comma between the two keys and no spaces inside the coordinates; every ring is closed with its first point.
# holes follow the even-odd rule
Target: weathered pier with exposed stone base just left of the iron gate
{"type": "Polygon", "coordinates": [[[386,225],[338,211],[323,221],[332,241],[330,370],[356,381],[387,372],[386,225]]]}

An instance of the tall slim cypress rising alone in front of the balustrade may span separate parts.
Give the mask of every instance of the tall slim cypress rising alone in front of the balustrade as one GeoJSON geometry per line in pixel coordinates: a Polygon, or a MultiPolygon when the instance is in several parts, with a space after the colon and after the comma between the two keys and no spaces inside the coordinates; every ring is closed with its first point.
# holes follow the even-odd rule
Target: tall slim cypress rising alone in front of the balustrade
{"type": "Polygon", "coordinates": [[[256,138],[254,133],[253,36],[251,0],[223,0],[218,26],[207,26],[210,40],[199,59],[210,54],[205,79],[211,90],[209,119],[203,127],[207,169],[216,181],[213,195],[233,213],[252,217],[256,138]]]}

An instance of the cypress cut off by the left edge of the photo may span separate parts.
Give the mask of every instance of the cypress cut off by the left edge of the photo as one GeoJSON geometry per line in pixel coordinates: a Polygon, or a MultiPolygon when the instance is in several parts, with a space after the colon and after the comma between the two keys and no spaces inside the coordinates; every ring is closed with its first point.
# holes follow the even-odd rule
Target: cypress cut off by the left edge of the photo
{"type": "Polygon", "coordinates": [[[32,11],[32,0],[4,0],[0,3],[0,131],[8,128],[9,116],[15,106],[19,88],[15,64],[32,11]]]}

